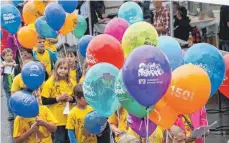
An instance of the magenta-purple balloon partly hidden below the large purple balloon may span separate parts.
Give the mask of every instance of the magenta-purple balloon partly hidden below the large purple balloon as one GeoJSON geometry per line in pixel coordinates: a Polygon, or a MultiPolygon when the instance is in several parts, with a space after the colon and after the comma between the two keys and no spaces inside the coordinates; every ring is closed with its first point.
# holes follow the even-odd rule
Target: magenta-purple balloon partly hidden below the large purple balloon
{"type": "MultiPolygon", "coordinates": [[[[146,127],[147,118],[138,118],[132,114],[128,114],[127,122],[131,129],[135,131],[139,136],[147,137],[146,127]]],[[[148,137],[155,131],[157,125],[148,119],[148,137]]]]}

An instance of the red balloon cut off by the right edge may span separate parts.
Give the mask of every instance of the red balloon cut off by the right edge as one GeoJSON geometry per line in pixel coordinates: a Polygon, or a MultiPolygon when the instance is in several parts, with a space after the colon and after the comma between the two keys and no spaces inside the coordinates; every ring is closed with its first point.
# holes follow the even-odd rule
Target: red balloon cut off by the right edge
{"type": "Polygon", "coordinates": [[[224,56],[224,61],[226,64],[226,74],[224,77],[224,81],[222,83],[222,85],[219,88],[219,91],[226,96],[227,98],[229,98],[229,54],[226,54],[224,56]]]}

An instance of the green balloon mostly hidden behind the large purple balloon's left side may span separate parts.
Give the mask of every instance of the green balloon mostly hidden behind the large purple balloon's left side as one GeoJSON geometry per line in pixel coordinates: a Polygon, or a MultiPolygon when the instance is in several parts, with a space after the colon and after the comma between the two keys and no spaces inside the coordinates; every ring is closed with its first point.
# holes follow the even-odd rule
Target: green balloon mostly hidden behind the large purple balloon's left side
{"type": "MultiPolygon", "coordinates": [[[[145,106],[139,104],[125,88],[122,78],[122,70],[119,71],[118,77],[115,81],[115,94],[118,98],[119,103],[125,108],[129,113],[135,115],[136,117],[143,118],[147,116],[147,109],[145,106]]],[[[153,110],[154,106],[151,106],[149,113],[153,110]]]]}

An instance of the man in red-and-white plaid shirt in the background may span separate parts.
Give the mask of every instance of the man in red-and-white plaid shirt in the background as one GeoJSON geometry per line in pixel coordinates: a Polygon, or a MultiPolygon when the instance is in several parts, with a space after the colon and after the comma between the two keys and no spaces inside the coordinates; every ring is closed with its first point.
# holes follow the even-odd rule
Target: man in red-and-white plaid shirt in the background
{"type": "Polygon", "coordinates": [[[156,8],[153,18],[153,26],[156,28],[158,35],[170,35],[170,14],[169,11],[162,6],[162,1],[153,1],[156,8]]]}

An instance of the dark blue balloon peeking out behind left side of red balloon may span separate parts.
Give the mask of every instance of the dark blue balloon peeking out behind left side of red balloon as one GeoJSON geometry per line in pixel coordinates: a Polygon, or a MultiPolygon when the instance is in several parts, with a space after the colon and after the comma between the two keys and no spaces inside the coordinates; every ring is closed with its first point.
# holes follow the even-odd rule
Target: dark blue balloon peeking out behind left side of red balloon
{"type": "Polygon", "coordinates": [[[92,38],[93,36],[91,35],[85,35],[82,38],[80,38],[78,42],[79,52],[83,57],[86,57],[87,47],[92,38]]]}

